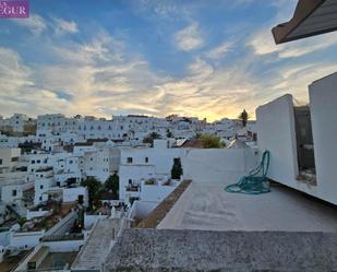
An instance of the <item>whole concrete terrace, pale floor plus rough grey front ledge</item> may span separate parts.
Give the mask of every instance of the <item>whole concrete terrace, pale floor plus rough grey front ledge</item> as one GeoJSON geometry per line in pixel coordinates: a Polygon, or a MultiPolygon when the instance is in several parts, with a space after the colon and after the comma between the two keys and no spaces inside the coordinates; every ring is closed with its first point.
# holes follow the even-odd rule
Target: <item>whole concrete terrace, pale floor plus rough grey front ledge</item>
{"type": "Polygon", "coordinates": [[[274,185],[260,196],[192,182],[157,228],[125,229],[106,272],[337,271],[332,204],[274,185]]]}

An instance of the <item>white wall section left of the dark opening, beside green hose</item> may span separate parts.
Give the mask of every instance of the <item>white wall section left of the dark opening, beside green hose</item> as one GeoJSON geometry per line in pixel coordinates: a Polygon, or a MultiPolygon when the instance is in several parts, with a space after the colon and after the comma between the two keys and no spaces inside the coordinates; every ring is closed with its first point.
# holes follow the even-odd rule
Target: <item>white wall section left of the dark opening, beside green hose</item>
{"type": "Polygon", "coordinates": [[[284,95],[256,109],[257,143],[270,152],[268,177],[296,187],[299,174],[292,96],[284,95]]]}

